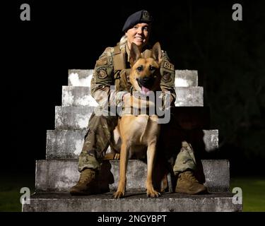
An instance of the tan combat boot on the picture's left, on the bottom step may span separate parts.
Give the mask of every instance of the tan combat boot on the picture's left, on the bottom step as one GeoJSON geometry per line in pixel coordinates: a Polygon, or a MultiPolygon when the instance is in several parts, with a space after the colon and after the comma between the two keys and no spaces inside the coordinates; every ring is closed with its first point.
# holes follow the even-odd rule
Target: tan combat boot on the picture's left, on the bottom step
{"type": "Polygon", "coordinates": [[[77,184],[71,187],[70,194],[72,196],[97,194],[99,191],[97,177],[98,172],[95,169],[84,169],[77,184]]]}

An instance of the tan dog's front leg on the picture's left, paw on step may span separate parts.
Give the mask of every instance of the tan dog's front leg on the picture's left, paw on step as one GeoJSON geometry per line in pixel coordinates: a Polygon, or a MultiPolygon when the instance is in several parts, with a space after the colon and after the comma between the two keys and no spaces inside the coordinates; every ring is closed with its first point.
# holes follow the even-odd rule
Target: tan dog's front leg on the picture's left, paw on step
{"type": "Polygon", "coordinates": [[[125,194],[126,188],[126,168],[128,162],[127,142],[122,141],[120,160],[119,160],[119,185],[117,191],[114,193],[114,198],[122,198],[125,194]]]}

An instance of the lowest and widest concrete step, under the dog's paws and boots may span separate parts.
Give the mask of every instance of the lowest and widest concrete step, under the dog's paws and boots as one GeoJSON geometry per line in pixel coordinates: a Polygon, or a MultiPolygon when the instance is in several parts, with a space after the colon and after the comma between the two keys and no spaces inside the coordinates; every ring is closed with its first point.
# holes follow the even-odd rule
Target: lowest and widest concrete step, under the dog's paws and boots
{"type": "MultiPolygon", "coordinates": [[[[165,193],[159,198],[147,198],[144,193],[127,193],[114,199],[112,193],[92,196],[69,194],[34,194],[23,212],[238,212],[242,205],[233,204],[230,192],[206,195],[165,193]]],[[[132,214],[133,215],[133,214],[132,214]]],[[[129,218],[122,219],[128,222],[129,218]]]]}

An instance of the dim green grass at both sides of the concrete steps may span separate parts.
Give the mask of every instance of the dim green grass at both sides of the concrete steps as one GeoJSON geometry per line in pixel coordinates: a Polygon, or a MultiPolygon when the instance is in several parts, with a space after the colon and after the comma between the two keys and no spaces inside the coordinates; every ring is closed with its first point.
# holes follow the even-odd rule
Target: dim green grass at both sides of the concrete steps
{"type": "MultiPolygon", "coordinates": [[[[20,212],[20,189],[28,187],[34,192],[35,175],[0,175],[0,212],[20,212]]],[[[235,177],[231,179],[230,188],[240,187],[243,194],[244,212],[265,212],[265,178],[235,177]]]]}

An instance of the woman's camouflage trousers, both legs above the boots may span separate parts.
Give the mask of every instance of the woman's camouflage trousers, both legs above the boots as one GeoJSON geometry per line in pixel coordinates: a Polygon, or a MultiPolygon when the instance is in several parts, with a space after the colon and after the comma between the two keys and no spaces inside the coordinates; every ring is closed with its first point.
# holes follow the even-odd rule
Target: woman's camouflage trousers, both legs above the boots
{"type": "MultiPolygon", "coordinates": [[[[91,115],[83,148],[79,155],[79,172],[85,168],[100,169],[117,122],[117,116],[96,116],[94,113],[91,115]]],[[[177,154],[173,171],[178,174],[187,169],[196,169],[196,160],[192,145],[187,141],[182,141],[182,148],[177,154]]]]}

